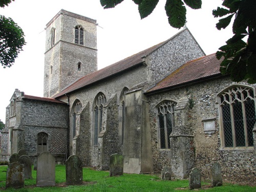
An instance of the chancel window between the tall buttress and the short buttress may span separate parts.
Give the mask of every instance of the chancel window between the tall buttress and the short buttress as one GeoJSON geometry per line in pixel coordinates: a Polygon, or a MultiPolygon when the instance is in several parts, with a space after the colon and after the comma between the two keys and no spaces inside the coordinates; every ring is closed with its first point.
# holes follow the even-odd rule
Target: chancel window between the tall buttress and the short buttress
{"type": "Polygon", "coordinates": [[[170,148],[169,135],[174,127],[174,108],[176,103],[163,101],[157,106],[160,148],[170,148]]]}

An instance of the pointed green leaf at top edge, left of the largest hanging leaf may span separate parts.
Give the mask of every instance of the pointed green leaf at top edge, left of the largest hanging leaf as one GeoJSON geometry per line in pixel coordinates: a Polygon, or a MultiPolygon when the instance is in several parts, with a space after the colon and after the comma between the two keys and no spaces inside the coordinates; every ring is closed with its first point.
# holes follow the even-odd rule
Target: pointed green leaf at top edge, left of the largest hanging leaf
{"type": "Polygon", "coordinates": [[[142,0],[139,4],[140,18],[145,18],[156,8],[159,0],[142,0]]]}

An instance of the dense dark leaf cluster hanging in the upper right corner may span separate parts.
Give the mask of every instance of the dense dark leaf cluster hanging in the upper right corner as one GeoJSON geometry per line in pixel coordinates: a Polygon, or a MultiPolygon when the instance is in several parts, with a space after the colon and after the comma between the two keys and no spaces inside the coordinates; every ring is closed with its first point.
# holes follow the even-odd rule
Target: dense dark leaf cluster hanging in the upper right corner
{"type": "Polygon", "coordinates": [[[256,82],[256,1],[255,0],[225,0],[225,8],[213,10],[215,17],[224,17],[216,25],[217,29],[225,29],[234,17],[233,37],[216,53],[218,59],[224,57],[220,71],[230,74],[234,81],[248,80],[256,82]],[[247,38],[247,43],[243,40],[247,38]]]}

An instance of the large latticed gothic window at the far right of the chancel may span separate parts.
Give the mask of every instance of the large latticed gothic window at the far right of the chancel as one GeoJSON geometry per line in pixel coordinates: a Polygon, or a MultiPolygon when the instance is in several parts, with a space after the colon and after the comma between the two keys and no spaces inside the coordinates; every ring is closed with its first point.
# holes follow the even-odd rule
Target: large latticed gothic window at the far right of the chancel
{"type": "Polygon", "coordinates": [[[219,100],[223,146],[253,146],[252,129],[256,122],[253,90],[231,87],[219,94],[219,100]]]}

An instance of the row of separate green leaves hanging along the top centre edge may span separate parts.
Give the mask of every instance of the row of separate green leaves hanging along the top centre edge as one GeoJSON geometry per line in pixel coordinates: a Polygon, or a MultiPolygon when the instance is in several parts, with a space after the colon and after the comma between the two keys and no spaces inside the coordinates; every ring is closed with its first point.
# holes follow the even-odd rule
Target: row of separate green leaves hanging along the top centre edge
{"type": "MultiPolygon", "coordinates": [[[[100,0],[101,6],[104,9],[114,8],[123,0],[100,0]]],[[[140,17],[145,18],[150,15],[156,8],[159,0],[133,0],[138,5],[140,17]]],[[[186,4],[192,9],[200,9],[202,0],[166,0],[165,11],[168,17],[170,26],[180,29],[186,22],[186,4]]]]}

